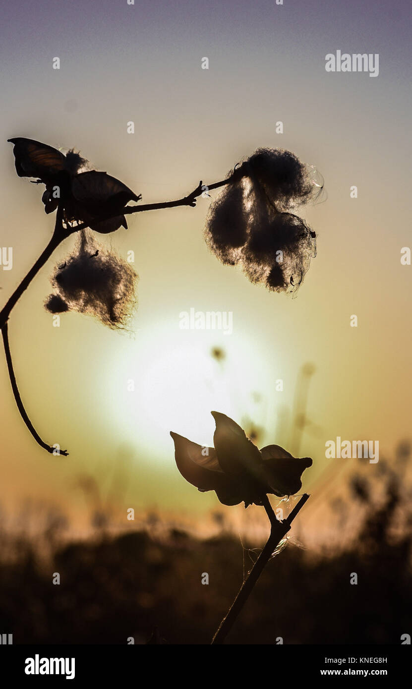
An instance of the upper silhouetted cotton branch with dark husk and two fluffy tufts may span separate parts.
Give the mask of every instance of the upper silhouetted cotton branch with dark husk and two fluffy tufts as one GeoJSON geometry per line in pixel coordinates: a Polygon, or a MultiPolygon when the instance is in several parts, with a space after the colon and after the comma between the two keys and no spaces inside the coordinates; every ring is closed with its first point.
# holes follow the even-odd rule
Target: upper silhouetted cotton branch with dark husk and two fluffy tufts
{"type": "Polygon", "coordinates": [[[92,169],[74,149],[63,154],[34,139],[16,137],[9,141],[14,147],[17,175],[42,185],[45,213],[56,213],[48,245],[0,311],[14,399],[34,440],[48,453],[68,455],[59,444],[51,445],[41,438],[25,411],[14,374],[8,322],[34,276],[69,236],[77,235],[74,251],[54,268],[53,292],[45,298],[44,306],[50,313],[77,311],[94,316],[112,329],[123,329],[130,321],[137,304],[138,276],[96,237],[127,228],[128,215],[195,207],[200,195],[223,187],[209,209],[205,241],[225,265],[239,265],[251,282],[262,283],[270,291],[294,294],[311,257],[316,256],[316,233],[295,210],[317,198],[323,183],[312,167],[291,152],[259,149],[219,182],[203,185],[200,181],[187,196],[144,205],[139,203],[140,194],[107,172],[92,169]]]}

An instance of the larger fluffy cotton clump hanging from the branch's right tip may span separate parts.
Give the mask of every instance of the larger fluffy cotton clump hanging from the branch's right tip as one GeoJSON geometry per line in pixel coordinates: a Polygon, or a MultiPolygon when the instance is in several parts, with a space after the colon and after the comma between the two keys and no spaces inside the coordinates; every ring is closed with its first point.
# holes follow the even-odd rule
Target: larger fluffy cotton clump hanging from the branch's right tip
{"type": "Polygon", "coordinates": [[[318,194],[312,173],[289,151],[258,149],[229,172],[209,210],[209,249],[223,263],[241,265],[255,284],[296,291],[316,256],[316,233],[287,209],[318,194]]]}

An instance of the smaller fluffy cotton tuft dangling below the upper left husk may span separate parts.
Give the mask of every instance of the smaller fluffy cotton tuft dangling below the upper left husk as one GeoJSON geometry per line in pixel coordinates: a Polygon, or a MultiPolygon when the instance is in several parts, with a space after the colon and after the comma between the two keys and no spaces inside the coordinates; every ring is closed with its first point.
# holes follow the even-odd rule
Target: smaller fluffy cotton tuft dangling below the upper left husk
{"type": "Polygon", "coordinates": [[[129,263],[83,230],[73,253],[54,271],[51,281],[56,294],[48,298],[45,308],[56,313],[60,303],[61,311],[89,313],[110,328],[125,328],[136,306],[137,280],[129,263]]]}

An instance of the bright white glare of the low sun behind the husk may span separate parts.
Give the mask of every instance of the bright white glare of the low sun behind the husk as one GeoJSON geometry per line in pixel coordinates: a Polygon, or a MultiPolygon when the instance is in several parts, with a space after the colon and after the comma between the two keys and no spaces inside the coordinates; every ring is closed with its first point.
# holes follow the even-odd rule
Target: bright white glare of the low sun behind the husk
{"type": "Polygon", "coordinates": [[[256,413],[261,416],[266,407],[272,371],[256,343],[244,336],[176,328],[171,338],[171,331],[163,325],[150,336],[141,332],[123,353],[116,371],[121,391],[113,385],[111,413],[127,440],[167,457],[173,451],[169,431],[213,444],[212,410],[239,421],[264,422],[256,413]],[[258,410],[256,393],[263,400],[258,410]]]}

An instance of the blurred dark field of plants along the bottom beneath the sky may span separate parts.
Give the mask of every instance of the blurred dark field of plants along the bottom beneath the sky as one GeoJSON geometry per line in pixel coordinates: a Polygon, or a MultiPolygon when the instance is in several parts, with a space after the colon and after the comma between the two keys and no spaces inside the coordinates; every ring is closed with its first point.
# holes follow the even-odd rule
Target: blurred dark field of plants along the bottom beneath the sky
{"type": "MultiPolygon", "coordinates": [[[[400,443],[373,478],[364,460],[347,460],[338,482],[318,484],[228,644],[400,644],[411,629],[410,452],[400,443]]],[[[153,509],[128,521],[92,475],[77,487],[82,535],[57,505],[1,514],[0,630],[14,644],[146,644],[154,628],[169,644],[208,644],[265,542],[262,509],[221,506],[197,521],[153,509]]],[[[279,503],[284,516],[296,500],[279,503]]]]}

